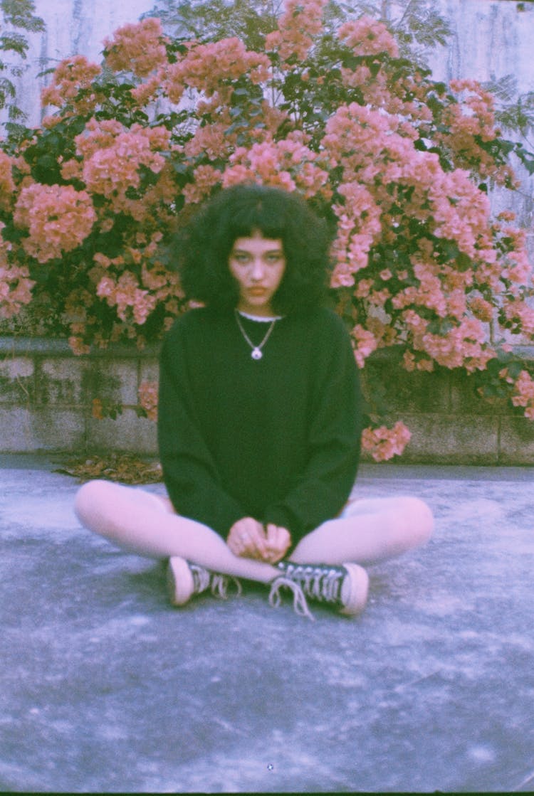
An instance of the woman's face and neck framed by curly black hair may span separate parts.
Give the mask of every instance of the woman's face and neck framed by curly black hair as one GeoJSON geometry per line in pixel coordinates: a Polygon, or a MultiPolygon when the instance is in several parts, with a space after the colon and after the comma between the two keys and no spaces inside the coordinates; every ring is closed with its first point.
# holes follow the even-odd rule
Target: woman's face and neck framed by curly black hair
{"type": "Polygon", "coordinates": [[[238,310],[266,318],[273,315],[271,302],[285,273],[282,241],[264,238],[261,232],[236,238],[228,266],[239,285],[238,310]]]}

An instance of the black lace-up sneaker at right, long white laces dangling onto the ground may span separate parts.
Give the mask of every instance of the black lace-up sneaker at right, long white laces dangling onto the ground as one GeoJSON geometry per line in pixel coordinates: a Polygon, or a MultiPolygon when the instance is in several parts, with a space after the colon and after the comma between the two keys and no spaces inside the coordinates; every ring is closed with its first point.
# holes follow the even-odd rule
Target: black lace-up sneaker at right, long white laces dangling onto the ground
{"type": "Polygon", "coordinates": [[[277,607],[281,603],[280,589],[293,591],[293,607],[297,614],[313,618],[306,599],[318,603],[329,603],[341,614],[354,616],[363,611],[367,602],[369,578],[358,564],[293,564],[280,561],[277,569],[281,575],[271,583],[269,603],[277,607]]]}

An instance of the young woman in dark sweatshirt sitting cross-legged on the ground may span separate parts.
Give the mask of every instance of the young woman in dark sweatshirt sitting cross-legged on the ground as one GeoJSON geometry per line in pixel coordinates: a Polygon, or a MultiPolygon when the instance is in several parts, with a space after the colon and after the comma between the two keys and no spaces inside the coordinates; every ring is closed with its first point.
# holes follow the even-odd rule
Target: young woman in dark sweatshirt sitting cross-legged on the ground
{"type": "Polygon", "coordinates": [[[363,565],[430,537],[418,498],[347,502],[360,393],[347,331],[323,306],[328,248],[303,200],[260,185],[223,190],[176,242],[183,289],[204,306],[175,322],[161,353],[169,497],[94,481],[76,501],[92,531],[168,559],[175,605],[245,578],[268,584],[272,604],[286,587],[300,613],[316,599],[354,615],[363,565]]]}

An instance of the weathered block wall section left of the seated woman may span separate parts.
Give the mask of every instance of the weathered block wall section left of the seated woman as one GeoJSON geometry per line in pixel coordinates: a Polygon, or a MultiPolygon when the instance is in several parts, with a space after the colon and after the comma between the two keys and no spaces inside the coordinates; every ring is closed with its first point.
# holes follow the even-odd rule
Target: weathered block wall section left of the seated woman
{"type": "Polygon", "coordinates": [[[155,454],[155,423],[136,410],[139,384],[157,373],[155,349],[75,357],[64,341],[0,338],[0,452],[155,454]],[[96,397],[123,412],[93,417],[96,397]]]}

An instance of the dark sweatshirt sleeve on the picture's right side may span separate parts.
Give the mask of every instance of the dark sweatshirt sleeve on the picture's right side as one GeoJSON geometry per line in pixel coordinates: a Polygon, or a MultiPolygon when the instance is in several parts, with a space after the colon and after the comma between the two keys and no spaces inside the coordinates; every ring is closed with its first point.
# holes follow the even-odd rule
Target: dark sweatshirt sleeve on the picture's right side
{"type": "Polygon", "coordinates": [[[362,431],[358,369],[342,322],[329,331],[318,351],[308,464],[289,494],[265,510],[264,521],[287,528],[293,542],[340,512],[358,469],[362,431]]]}

